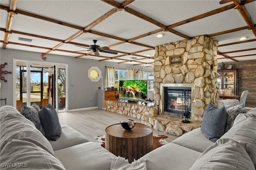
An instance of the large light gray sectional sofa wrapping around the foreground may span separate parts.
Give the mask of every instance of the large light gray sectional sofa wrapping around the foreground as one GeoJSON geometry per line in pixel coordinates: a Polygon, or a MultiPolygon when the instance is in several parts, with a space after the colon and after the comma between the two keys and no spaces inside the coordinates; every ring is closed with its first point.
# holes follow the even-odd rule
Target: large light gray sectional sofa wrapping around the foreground
{"type": "MultiPolygon", "coordinates": [[[[115,157],[68,126],[62,126],[57,141],[48,141],[11,106],[0,108],[0,128],[1,170],[14,166],[26,170],[109,170],[115,157]]],[[[238,115],[233,127],[215,143],[197,128],[142,158],[147,160],[148,170],[254,170],[256,109],[238,115]]]]}

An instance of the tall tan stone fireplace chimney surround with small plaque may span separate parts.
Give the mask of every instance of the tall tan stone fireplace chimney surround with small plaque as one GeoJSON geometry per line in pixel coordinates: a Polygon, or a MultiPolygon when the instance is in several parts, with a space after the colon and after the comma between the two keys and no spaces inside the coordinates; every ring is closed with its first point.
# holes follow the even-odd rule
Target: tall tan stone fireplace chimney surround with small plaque
{"type": "Polygon", "coordinates": [[[164,113],[163,87],[190,85],[191,117],[202,121],[208,103],[218,99],[217,48],[218,42],[204,35],[155,48],[154,99],[160,100],[160,113],[164,113]]]}

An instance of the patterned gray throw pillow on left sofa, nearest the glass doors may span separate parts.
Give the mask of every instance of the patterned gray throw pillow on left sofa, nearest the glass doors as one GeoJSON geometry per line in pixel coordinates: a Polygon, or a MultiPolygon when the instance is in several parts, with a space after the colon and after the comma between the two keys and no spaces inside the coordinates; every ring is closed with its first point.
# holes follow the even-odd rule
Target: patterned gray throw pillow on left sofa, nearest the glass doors
{"type": "Polygon", "coordinates": [[[35,127],[45,136],[44,128],[42,127],[42,123],[40,121],[39,112],[40,108],[36,103],[33,103],[31,107],[23,105],[20,113],[34,123],[35,127]]]}

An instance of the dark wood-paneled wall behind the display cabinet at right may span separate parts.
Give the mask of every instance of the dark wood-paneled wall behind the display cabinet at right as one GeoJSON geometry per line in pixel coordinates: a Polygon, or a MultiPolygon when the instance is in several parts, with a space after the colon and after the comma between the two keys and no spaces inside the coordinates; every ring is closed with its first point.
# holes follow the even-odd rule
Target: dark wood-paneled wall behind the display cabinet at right
{"type": "Polygon", "coordinates": [[[232,68],[238,69],[238,95],[245,90],[249,91],[245,106],[256,107],[256,59],[225,64],[232,64],[232,68]]]}

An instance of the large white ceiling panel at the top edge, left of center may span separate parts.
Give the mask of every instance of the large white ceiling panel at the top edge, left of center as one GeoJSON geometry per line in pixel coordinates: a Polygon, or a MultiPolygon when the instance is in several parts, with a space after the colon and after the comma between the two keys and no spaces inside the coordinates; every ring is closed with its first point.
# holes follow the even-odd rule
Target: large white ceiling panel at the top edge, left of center
{"type": "Polygon", "coordinates": [[[80,27],[86,27],[112,8],[98,0],[18,0],[17,3],[17,9],[80,27]]]}

